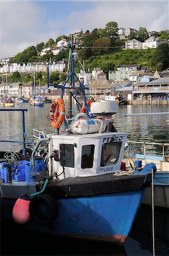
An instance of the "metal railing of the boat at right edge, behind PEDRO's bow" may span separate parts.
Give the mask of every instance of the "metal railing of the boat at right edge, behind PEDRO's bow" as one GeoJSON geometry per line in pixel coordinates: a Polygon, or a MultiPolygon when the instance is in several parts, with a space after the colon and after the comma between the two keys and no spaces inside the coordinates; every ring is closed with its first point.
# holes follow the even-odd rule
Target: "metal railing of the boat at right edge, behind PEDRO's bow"
{"type": "MultiPolygon", "coordinates": [[[[169,143],[158,143],[158,142],[144,142],[144,141],[130,141],[130,140],[127,140],[127,143],[132,143],[133,145],[141,145],[143,146],[143,155],[157,155],[157,156],[162,156],[162,158],[164,160],[166,159],[169,159],[169,143]],[[150,147],[151,146],[151,147],[150,147]],[[156,154],[152,154],[152,146],[161,146],[161,151],[159,153],[156,152],[156,154]]],[[[137,146],[136,146],[137,147],[137,146]]],[[[134,155],[135,157],[138,156],[138,152],[135,148],[135,152],[134,152],[134,155]]]]}

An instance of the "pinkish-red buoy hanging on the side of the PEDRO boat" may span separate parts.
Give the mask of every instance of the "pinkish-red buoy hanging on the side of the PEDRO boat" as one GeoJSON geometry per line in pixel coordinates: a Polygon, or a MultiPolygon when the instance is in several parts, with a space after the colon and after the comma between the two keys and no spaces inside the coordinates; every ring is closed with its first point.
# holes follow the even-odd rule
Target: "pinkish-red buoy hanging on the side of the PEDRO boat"
{"type": "Polygon", "coordinates": [[[29,213],[29,204],[31,200],[27,196],[20,197],[16,200],[14,208],[12,210],[12,217],[18,224],[26,223],[31,214],[29,213]]]}

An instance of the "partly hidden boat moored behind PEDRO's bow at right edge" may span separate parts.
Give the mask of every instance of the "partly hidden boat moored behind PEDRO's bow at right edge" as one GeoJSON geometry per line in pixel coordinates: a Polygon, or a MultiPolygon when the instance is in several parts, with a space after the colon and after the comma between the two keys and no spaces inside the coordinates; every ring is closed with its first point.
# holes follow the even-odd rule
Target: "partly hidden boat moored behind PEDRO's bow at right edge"
{"type": "MultiPolygon", "coordinates": [[[[157,172],[154,174],[154,205],[158,208],[169,209],[169,144],[157,142],[128,141],[125,148],[124,162],[130,170],[142,168],[145,164],[154,163],[157,172]],[[140,146],[140,147],[138,147],[140,146]],[[159,154],[153,154],[151,148],[157,146],[162,148],[159,154]]],[[[152,204],[151,188],[146,188],[142,204],[152,204]]]]}

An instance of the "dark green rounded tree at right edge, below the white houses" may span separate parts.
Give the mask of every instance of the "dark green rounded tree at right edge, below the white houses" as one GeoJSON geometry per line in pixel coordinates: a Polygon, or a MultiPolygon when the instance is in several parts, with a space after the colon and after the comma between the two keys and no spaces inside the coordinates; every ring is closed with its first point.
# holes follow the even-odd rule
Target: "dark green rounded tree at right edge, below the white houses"
{"type": "Polygon", "coordinates": [[[169,46],[168,43],[162,43],[158,46],[153,56],[153,64],[158,71],[168,68],[169,46]]]}

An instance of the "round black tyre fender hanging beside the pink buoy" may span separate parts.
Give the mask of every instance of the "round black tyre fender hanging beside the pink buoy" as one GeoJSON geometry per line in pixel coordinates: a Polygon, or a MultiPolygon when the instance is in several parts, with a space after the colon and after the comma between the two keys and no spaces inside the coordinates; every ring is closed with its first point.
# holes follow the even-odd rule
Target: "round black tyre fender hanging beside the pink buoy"
{"type": "Polygon", "coordinates": [[[29,212],[34,221],[47,225],[54,221],[58,215],[56,200],[48,193],[42,193],[31,199],[29,212]]]}

